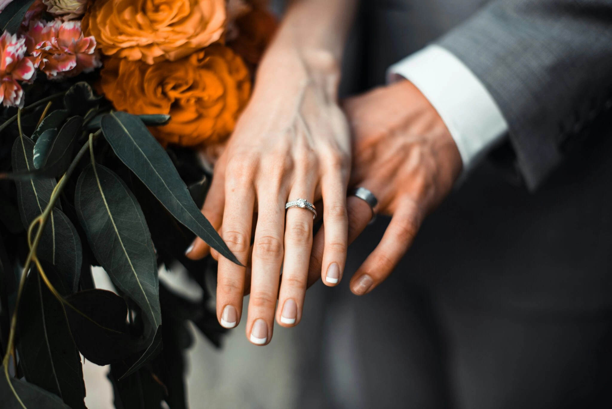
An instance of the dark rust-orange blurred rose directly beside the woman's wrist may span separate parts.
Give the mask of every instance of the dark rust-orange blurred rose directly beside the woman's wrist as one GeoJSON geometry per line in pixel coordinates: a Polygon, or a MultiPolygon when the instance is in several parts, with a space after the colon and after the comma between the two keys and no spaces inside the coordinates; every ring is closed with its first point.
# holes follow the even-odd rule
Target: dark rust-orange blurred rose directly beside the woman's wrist
{"type": "Polygon", "coordinates": [[[238,17],[234,23],[237,36],[228,45],[244,58],[248,64],[255,66],[272,40],[277,28],[274,15],[259,7],[238,17]]]}

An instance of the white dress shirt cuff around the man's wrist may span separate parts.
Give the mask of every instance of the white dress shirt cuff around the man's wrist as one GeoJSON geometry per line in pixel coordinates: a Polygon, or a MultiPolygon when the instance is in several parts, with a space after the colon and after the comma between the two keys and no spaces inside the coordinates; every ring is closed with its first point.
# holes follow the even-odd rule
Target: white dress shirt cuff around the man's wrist
{"type": "Polygon", "coordinates": [[[429,45],[389,68],[389,82],[412,82],[450,131],[463,160],[474,166],[508,130],[498,105],[468,67],[439,45],[429,45]]]}

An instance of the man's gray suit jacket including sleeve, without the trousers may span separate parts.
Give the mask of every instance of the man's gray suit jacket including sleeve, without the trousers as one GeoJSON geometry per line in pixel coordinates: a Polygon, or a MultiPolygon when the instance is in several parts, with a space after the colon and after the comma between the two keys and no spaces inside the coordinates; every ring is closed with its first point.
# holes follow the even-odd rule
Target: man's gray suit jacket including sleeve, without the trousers
{"type": "MultiPolygon", "coordinates": [[[[394,273],[528,313],[612,306],[612,1],[365,1],[346,93],[436,42],[493,96],[509,135],[425,221],[394,273]]],[[[370,227],[348,268],[381,237],[370,227]]]]}

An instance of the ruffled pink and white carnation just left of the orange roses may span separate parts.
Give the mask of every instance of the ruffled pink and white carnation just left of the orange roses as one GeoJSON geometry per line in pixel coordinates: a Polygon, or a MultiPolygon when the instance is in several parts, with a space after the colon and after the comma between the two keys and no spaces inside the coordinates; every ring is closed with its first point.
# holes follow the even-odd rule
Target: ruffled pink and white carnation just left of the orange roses
{"type": "Polygon", "coordinates": [[[33,21],[26,45],[35,66],[51,79],[74,77],[102,66],[95,38],[83,36],[81,21],[33,21]]]}

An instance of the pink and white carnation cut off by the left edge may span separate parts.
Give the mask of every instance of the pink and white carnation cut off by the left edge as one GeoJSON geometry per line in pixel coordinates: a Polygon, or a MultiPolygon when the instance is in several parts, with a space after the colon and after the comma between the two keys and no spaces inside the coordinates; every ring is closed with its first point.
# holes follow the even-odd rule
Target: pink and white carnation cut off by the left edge
{"type": "Polygon", "coordinates": [[[36,67],[25,56],[25,39],[4,32],[0,37],[0,101],[5,107],[23,107],[23,89],[18,81],[34,79],[36,67]]]}

